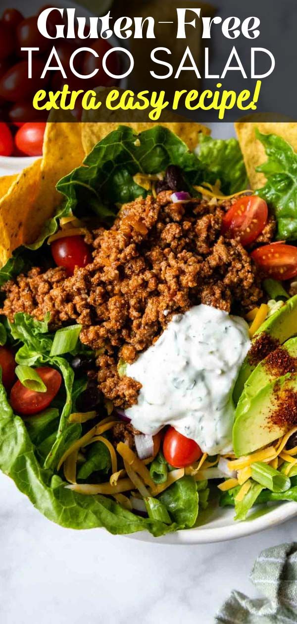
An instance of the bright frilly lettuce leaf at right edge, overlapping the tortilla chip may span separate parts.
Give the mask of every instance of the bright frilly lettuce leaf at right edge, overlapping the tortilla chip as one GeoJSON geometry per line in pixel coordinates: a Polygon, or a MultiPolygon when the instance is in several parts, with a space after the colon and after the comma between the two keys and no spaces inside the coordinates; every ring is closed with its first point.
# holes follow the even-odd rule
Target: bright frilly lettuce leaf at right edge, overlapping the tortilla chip
{"type": "Polygon", "coordinates": [[[265,147],[268,160],[257,167],[266,175],[267,182],[256,191],[270,205],[278,225],[277,238],[297,239],[297,154],[293,147],[275,134],[261,134],[256,137],[265,147]]]}

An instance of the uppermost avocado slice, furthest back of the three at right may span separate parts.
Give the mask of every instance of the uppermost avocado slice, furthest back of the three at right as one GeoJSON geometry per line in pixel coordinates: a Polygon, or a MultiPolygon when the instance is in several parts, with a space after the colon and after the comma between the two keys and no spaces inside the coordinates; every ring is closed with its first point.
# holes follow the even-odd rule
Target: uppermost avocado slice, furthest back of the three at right
{"type": "MultiPolygon", "coordinates": [[[[278,343],[283,344],[288,338],[297,334],[297,295],[288,299],[280,310],[277,310],[275,314],[272,314],[266,319],[256,331],[255,336],[253,336],[251,349],[241,366],[234,386],[233,401],[235,405],[238,403],[246,380],[256,367],[257,362],[253,361],[252,354],[253,351],[255,353],[256,344],[262,339],[261,336],[263,336],[264,333],[267,336],[265,355],[274,351],[278,343]]],[[[260,342],[258,344],[260,345],[260,342]]],[[[261,353],[261,349],[259,349],[259,351],[261,353]]],[[[260,361],[261,359],[263,358],[260,358],[260,361]]]]}

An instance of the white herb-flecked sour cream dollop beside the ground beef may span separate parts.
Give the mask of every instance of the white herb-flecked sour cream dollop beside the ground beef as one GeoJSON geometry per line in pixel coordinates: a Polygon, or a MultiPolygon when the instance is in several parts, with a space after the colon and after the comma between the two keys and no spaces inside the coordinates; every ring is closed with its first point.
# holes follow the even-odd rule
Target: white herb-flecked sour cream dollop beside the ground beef
{"type": "Polygon", "coordinates": [[[142,384],[127,416],[145,434],[171,424],[203,452],[229,451],[232,391],[249,348],[243,318],[205,305],[176,314],[155,344],[127,366],[126,374],[142,384]]]}

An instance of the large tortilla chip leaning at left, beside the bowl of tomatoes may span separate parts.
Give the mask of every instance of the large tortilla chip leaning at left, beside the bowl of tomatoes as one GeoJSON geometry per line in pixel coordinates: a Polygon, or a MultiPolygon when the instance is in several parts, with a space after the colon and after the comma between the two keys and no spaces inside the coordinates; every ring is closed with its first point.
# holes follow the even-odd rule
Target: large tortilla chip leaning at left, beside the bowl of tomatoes
{"type": "MultiPolygon", "coordinates": [[[[84,159],[80,124],[72,119],[64,111],[62,116],[51,118],[44,135],[43,157],[22,171],[0,199],[1,266],[17,247],[36,240],[63,199],[56,190],[57,182],[84,159]]],[[[4,188],[7,184],[4,182],[4,188]]]]}

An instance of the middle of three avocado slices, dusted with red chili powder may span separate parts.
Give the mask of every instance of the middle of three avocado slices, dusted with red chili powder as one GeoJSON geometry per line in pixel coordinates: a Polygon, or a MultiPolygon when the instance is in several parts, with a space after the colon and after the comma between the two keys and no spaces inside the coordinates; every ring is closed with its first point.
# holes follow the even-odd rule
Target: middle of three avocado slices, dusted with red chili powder
{"type": "Polygon", "coordinates": [[[248,409],[251,399],[253,399],[262,388],[286,373],[297,373],[297,338],[290,338],[290,340],[287,340],[281,348],[272,351],[269,356],[256,366],[246,381],[243,392],[241,392],[236,407],[235,418],[238,414],[248,409]],[[286,351],[291,361],[290,358],[288,358],[288,360],[282,358],[280,356],[280,351],[286,351]],[[294,361],[293,358],[296,358],[296,361],[294,361]]]}

